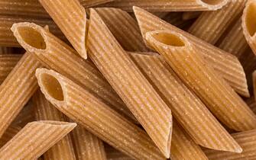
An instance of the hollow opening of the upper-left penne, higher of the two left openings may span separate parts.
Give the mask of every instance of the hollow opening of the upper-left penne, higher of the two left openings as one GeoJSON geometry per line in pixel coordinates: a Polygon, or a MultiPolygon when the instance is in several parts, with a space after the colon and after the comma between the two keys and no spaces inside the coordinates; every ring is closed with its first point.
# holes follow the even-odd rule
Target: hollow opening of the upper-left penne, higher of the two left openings
{"type": "Polygon", "coordinates": [[[33,46],[37,49],[46,49],[46,43],[44,42],[44,37],[34,28],[31,27],[18,27],[18,33],[20,34],[22,40],[28,45],[33,46]]]}

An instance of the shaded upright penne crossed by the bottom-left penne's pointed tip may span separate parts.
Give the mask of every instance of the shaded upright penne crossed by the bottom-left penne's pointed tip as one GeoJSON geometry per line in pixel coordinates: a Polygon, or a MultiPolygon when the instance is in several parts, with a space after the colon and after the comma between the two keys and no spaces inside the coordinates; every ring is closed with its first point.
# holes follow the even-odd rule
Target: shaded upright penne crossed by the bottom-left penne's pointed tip
{"type": "MultiPolygon", "coordinates": [[[[56,107],[50,104],[44,94],[37,90],[33,95],[34,114],[36,120],[57,120],[65,121],[66,116],[63,115],[56,107]]],[[[47,152],[44,153],[44,159],[70,159],[75,160],[75,152],[70,136],[65,136],[60,142],[57,142],[47,152]]]]}

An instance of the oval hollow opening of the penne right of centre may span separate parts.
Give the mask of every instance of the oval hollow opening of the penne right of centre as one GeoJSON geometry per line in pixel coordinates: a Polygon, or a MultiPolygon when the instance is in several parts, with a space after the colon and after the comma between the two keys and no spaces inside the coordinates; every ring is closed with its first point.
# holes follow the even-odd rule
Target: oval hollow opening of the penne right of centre
{"type": "Polygon", "coordinates": [[[159,41],[160,43],[164,43],[168,46],[185,46],[183,40],[175,34],[163,32],[153,34],[152,36],[154,37],[155,40],[159,41]]]}

